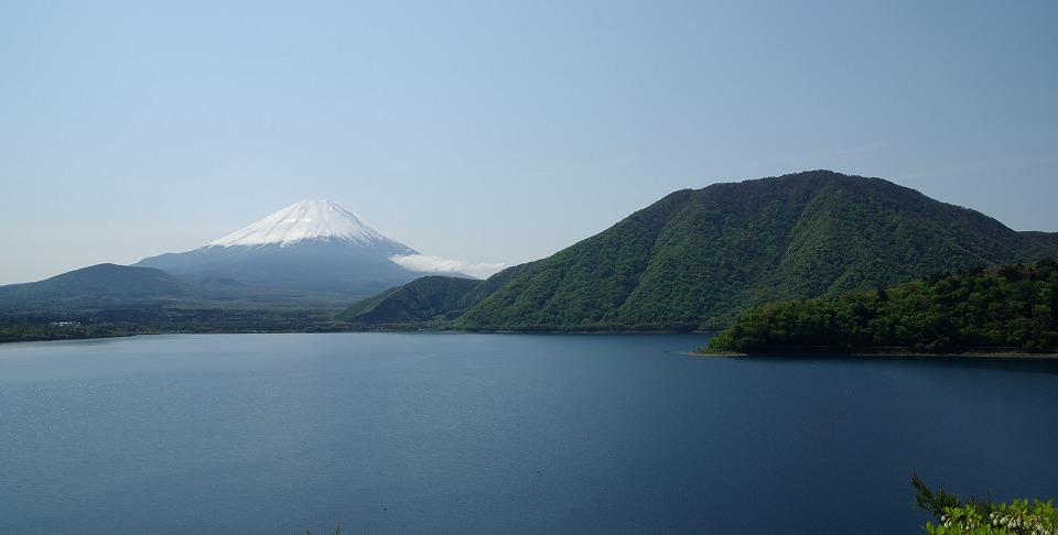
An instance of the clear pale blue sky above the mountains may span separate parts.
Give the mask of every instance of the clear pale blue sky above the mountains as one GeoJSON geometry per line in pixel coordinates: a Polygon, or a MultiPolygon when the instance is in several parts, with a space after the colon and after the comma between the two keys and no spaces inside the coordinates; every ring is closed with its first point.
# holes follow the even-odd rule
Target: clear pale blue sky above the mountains
{"type": "Polygon", "coordinates": [[[0,0],[0,284],[311,198],[514,265],[676,189],[814,168],[1058,231],[1055,21],[1052,1],[0,0]]]}

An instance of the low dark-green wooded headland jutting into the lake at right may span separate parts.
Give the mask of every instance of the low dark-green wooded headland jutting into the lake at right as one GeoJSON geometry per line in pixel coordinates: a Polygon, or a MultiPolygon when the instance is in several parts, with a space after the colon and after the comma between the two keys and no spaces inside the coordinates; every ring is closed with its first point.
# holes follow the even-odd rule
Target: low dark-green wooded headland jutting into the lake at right
{"type": "Polygon", "coordinates": [[[963,351],[1058,348],[1052,260],[930,275],[890,290],[787,301],[743,314],[710,340],[715,351],[906,348],[963,351]]]}

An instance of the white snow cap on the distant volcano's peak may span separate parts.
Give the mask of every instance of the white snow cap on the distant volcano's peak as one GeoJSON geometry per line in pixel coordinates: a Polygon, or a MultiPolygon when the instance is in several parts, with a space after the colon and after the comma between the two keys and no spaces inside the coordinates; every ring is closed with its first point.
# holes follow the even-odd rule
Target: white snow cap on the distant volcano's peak
{"type": "MultiPolygon", "coordinates": [[[[300,241],[341,240],[361,247],[411,251],[408,245],[389,238],[361,221],[342,205],[331,200],[302,200],[263,219],[213,241],[213,247],[287,247],[300,241]]],[[[412,251],[413,252],[413,251],[412,251]]]]}

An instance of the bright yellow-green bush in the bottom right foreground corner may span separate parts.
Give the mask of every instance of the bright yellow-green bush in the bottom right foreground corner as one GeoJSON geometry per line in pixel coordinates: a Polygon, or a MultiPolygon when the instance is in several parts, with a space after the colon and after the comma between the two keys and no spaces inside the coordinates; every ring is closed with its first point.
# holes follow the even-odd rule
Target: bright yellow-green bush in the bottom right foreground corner
{"type": "Polygon", "coordinates": [[[926,533],[930,535],[1024,535],[1058,533],[1058,510],[1054,502],[1014,500],[1012,505],[978,501],[968,501],[939,489],[933,492],[918,478],[911,474],[911,485],[917,491],[915,504],[929,511],[939,520],[935,526],[926,523],[926,533]]]}

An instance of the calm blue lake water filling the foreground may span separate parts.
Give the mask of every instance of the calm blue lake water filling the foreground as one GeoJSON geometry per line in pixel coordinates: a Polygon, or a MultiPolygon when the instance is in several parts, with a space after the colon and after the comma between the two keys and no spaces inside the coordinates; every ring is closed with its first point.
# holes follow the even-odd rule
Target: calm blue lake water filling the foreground
{"type": "Polygon", "coordinates": [[[920,533],[917,470],[1058,498],[1058,367],[703,336],[0,346],[0,533],[920,533]]]}

